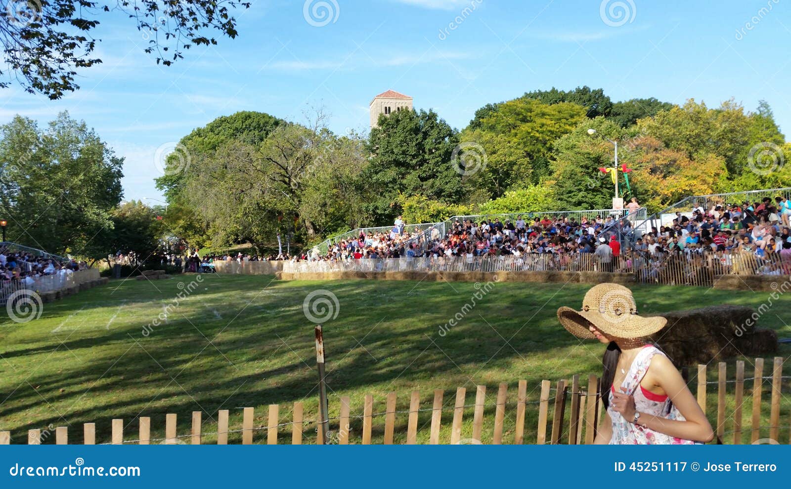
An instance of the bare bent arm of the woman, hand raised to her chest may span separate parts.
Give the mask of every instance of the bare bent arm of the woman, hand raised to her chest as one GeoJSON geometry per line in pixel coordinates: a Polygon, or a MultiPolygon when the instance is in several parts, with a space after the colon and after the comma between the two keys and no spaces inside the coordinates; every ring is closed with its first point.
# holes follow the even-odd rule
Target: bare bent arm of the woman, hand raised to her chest
{"type": "MultiPolygon", "coordinates": [[[[649,430],[659,433],[669,434],[676,438],[694,440],[695,442],[710,442],[714,438],[709,420],[698,405],[698,401],[692,396],[690,389],[681,377],[676,367],[664,355],[655,355],[651,359],[649,367],[651,379],[657,386],[660,386],[668,394],[673,404],[684,416],[686,421],[676,421],[666,419],[661,416],[651,416],[641,413],[639,423],[649,430]]],[[[615,397],[631,397],[624,393],[615,393],[615,397]]],[[[634,419],[634,399],[624,403],[622,410],[623,417],[627,421],[634,419]]]]}

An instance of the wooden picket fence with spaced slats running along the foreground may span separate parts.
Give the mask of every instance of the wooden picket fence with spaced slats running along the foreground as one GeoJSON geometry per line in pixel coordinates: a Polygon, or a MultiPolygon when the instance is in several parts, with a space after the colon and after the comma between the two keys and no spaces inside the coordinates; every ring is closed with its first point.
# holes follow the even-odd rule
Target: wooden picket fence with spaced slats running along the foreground
{"type": "MultiPolygon", "coordinates": [[[[764,376],[764,364],[764,359],[755,359],[753,376],[745,378],[744,361],[737,361],[736,376],[729,379],[726,376],[726,363],[719,363],[717,365],[716,381],[708,381],[706,365],[698,365],[697,379],[695,381],[697,389],[695,390],[694,386],[691,386],[691,389],[694,393],[696,392],[698,404],[706,412],[707,397],[710,393],[709,386],[717,385],[714,391],[717,396],[717,408],[714,412],[709,409],[710,412],[707,412],[707,414],[712,421],[712,426],[720,442],[733,444],[760,442],[766,440],[766,438],[761,436],[762,429],[765,434],[769,434],[771,440],[781,442],[779,438],[780,430],[783,426],[781,422],[782,383],[784,380],[788,380],[789,377],[783,376],[782,357],[774,358],[772,372],[768,376],[764,376]],[[762,404],[765,401],[763,397],[764,381],[771,381],[768,427],[765,423],[762,423],[762,404]],[[751,382],[752,388],[751,393],[747,395],[745,393],[745,385],[749,388],[749,382],[751,382]],[[730,410],[726,408],[729,384],[735,385],[732,389],[734,408],[730,410]],[[747,408],[744,408],[744,404],[747,404],[747,408]],[[749,408],[750,405],[751,408],[749,408]],[[748,416],[747,423],[744,423],[745,415],[748,416]],[[728,427],[732,429],[726,429],[728,427]]],[[[579,375],[574,375],[570,382],[566,380],[555,382],[554,387],[552,382],[543,380],[540,384],[538,399],[530,400],[528,399],[528,382],[520,380],[517,386],[517,401],[516,403],[513,403],[513,401],[509,403],[509,395],[513,396],[513,393],[509,394],[508,384],[501,383],[498,386],[497,397],[494,403],[494,432],[491,433],[491,443],[501,444],[505,442],[504,421],[506,408],[510,407],[516,409],[513,427],[514,444],[592,444],[596,438],[596,428],[598,427],[603,408],[603,404],[600,401],[599,386],[600,379],[596,375],[590,375],[587,379],[587,384],[579,375]],[[531,433],[529,436],[525,431],[525,415],[528,406],[537,406],[538,408],[536,431],[535,434],[531,433]]],[[[418,416],[422,412],[430,412],[430,423],[426,423],[426,426],[429,427],[428,442],[432,445],[440,443],[477,444],[483,438],[489,438],[489,433],[483,433],[486,408],[492,407],[490,402],[486,402],[486,386],[476,386],[474,404],[467,404],[467,389],[464,387],[456,389],[456,397],[453,399],[452,408],[445,407],[444,397],[444,390],[435,389],[431,407],[422,407],[421,393],[415,390],[409,398],[408,410],[399,411],[397,409],[399,402],[396,393],[388,393],[385,399],[384,412],[375,413],[373,409],[374,397],[373,395],[366,395],[361,406],[361,416],[352,416],[350,397],[341,397],[339,416],[331,417],[327,420],[332,435],[331,443],[339,445],[350,443],[371,444],[374,425],[378,424],[378,433],[382,427],[377,421],[384,418],[383,437],[381,439],[384,444],[392,444],[395,442],[396,415],[401,414],[408,416],[406,437],[402,439],[408,445],[415,444],[418,442],[418,430],[421,429],[418,423],[418,416]],[[471,429],[467,425],[465,430],[464,412],[470,408],[474,409],[473,421],[471,429]],[[449,411],[452,411],[450,434],[448,436],[446,427],[444,436],[441,436],[441,428],[443,427],[442,415],[443,412],[449,411]],[[350,423],[353,419],[361,419],[361,436],[355,439],[350,436],[350,423]]],[[[713,404],[713,402],[709,404],[713,404]]],[[[176,414],[168,413],[165,415],[165,438],[151,438],[151,418],[140,417],[138,418],[138,436],[134,439],[127,439],[127,434],[124,433],[123,419],[112,419],[112,434],[109,444],[149,445],[151,443],[187,444],[188,442],[192,445],[200,445],[204,436],[216,435],[217,444],[226,445],[229,443],[229,434],[240,433],[241,444],[250,445],[254,442],[262,442],[262,440],[255,440],[255,433],[266,431],[266,443],[276,445],[278,442],[285,441],[283,438],[278,437],[278,434],[282,433],[282,429],[291,427],[290,444],[301,445],[305,427],[308,427],[308,425],[316,425],[316,442],[323,442],[322,423],[317,423],[319,416],[313,419],[305,419],[304,414],[303,403],[295,402],[293,403],[292,419],[284,421],[280,416],[280,405],[270,404],[267,412],[267,426],[254,427],[254,408],[243,408],[240,429],[230,429],[229,410],[224,409],[218,412],[217,431],[207,433],[202,432],[202,412],[196,411],[192,412],[191,415],[190,433],[178,434],[176,430],[176,414]]],[[[791,438],[791,419],[785,423],[785,427],[789,427],[789,438],[791,438]]],[[[511,433],[509,431],[510,438],[511,433]]],[[[95,423],[85,423],[83,425],[81,441],[85,445],[96,444],[95,423]]],[[[9,431],[0,431],[0,445],[7,445],[10,442],[12,442],[12,438],[9,431]]],[[[41,442],[41,430],[28,431],[28,444],[37,445],[41,442]]],[[[55,444],[66,445],[69,442],[74,443],[75,440],[74,438],[70,439],[68,428],[55,428],[55,444]]],[[[791,443],[791,439],[788,442],[791,443]]]]}

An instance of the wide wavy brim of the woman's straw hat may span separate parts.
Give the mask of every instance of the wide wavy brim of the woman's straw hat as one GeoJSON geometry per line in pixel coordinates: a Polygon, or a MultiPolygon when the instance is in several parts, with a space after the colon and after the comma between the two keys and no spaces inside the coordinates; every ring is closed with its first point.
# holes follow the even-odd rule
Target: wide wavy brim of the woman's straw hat
{"type": "Polygon", "coordinates": [[[643,338],[657,333],[668,323],[666,318],[652,316],[644,318],[630,314],[618,322],[611,322],[598,310],[574,310],[571,307],[558,309],[558,321],[566,330],[577,338],[592,340],[596,336],[591,333],[589,324],[607,336],[614,338],[643,338]]]}

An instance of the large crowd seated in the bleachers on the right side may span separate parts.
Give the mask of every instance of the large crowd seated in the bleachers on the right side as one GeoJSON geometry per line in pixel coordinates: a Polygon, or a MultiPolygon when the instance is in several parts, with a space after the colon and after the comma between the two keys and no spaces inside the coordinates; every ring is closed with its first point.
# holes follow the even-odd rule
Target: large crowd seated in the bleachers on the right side
{"type": "MultiPolygon", "coordinates": [[[[645,223],[635,218],[640,209],[632,199],[627,216],[591,218],[543,215],[524,219],[455,220],[442,235],[430,228],[400,235],[397,225],[389,233],[361,232],[332,244],[326,254],[297,259],[350,261],[360,258],[550,255],[552,267],[571,269],[575,254],[592,254],[596,269],[637,272],[647,277],[662,273],[668,264],[708,265],[716,273],[730,273],[739,258],[752,258],[751,273],[791,273],[791,201],[779,196],[741,204],[696,205],[676,213],[672,222],[640,233],[645,223]]],[[[650,221],[649,221],[650,222],[650,221]]],[[[535,261],[535,260],[534,260],[535,261]]],[[[543,262],[546,262],[544,260],[543,262]]],[[[742,260],[747,263],[748,261],[742,260]]]]}

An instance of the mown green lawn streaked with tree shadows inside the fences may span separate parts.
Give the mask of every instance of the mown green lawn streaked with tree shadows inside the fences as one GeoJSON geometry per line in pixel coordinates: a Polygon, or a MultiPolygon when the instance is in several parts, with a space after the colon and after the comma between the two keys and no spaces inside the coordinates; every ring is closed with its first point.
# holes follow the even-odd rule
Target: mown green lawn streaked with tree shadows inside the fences
{"type": "MultiPolygon", "coordinates": [[[[400,411],[407,409],[413,389],[421,392],[422,408],[430,408],[433,389],[445,389],[448,409],[441,439],[447,442],[456,387],[466,387],[466,404],[473,404],[475,385],[482,384],[489,388],[483,437],[488,442],[497,385],[508,382],[504,442],[509,442],[515,419],[511,403],[516,401],[519,379],[528,381],[528,401],[536,401],[542,379],[555,382],[573,374],[600,374],[602,345],[581,343],[555,318],[558,306],[580,307],[587,288],[494,284],[443,337],[440,326],[470,301],[477,291],[474,284],[279,281],[272,276],[216,274],[111,281],[44,304],[44,313],[35,321],[0,323],[0,431],[11,431],[16,443],[25,442],[29,429],[51,431],[44,442],[53,442],[51,428],[68,426],[70,440],[81,442],[82,423],[95,422],[97,442],[108,442],[111,419],[120,418],[125,438],[133,440],[138,416],[150,416],[152,438],[161,438],[167,412],[179,415],[180,434],[189,433],[192,411],[202,411],[203,431],[213,432],[218,409],[231,411],[234,430],[241,426],[240,408],[254,407],[255,426],[265,427],[267,404],[281,404],[284,422],[291,418],[294,401],[305,402],[305,419],[316,419],[313,323],[305,318],[303,300],[316,289],[327,289],[339,303],[337,317],[324,328],[331,416],[338,414],[340,396],[351,397],[352,415],[359,416],[366,393],[373,394],[377,413],[384,412],[388,392],[398,393],[400,411]],[[193,288],[176,305],[176,295],[193,288]],[[153,325],[157,314],[165,312],[167,320],[153,325]]],[[[757,308],[767,293],[635,286],[634,295],[641,313],[661,313],[720,303],[757,308]]],[[[777,329],[782,338],[791,337],[789,324],[791,297],[775,301],[760,322],[777,329]]],[[[782,345],[781,355],[789,354],[791,348],[782,345]]],[[[729,360],[729,378],[735,360],[729,360]]],[[[747,360],[750,377],[752,362],[747,360]]],[[[716,370],[710,368],[710,378],[716,370]]],[[[768,363],[764,374],[770,373],[768,363]]],[[[765,392],[768,388],[767,382],[765,392]]],[[[787,382],[784,389],[789,392],[787,382]]],[[[747,382],[745,393],[750,392],[747,382]]],[[[768,416],[766,393],[763,400],[768,416]]],[[[716,394],[710,393],[710,413],[716,412],[716,403],[716,394]]],[[[747,402],[745,411],[750,406],[747,402]]],[[[788,441],[789,413],[791,396],[786,394],[782,442],[788,441]]],[[[534,405],[527,416],[525,438],[535,442],[534,405]]],[[[469,408],[464,438],[471,433],[471,419],[469,408]]],[[[747,414],[744,419],[749,421],[747,414]]],[[[430,412],[422,412],[419,442],[428,438],[429,421],[430,412]]],[[[396,442],[403,442],[406,423],[407,415],[399,413],[396,442]]],[[[381,437],[383,425],[382,419],[375,421],[374,438],[381,437]]],[[[351,438],[359,442],[361,420],[355,418],[351,426],[351,438]]],[[[288,426],[281,428],[283,437],[290,437],[290,431],[288,426]]],[[[762,435],[768,436],[765,431],[762,435]]],[[[305,442],[315,437],[315,425],[306,426],[305,442]]],[[[238,433],[229,437],[231,442],[239,438],[238,433]]],[[[265,431],[255,432],[255,442],[265,438],[265,431]]],[[[204,439],[212,442],[215,437],[204,439]]]]}

